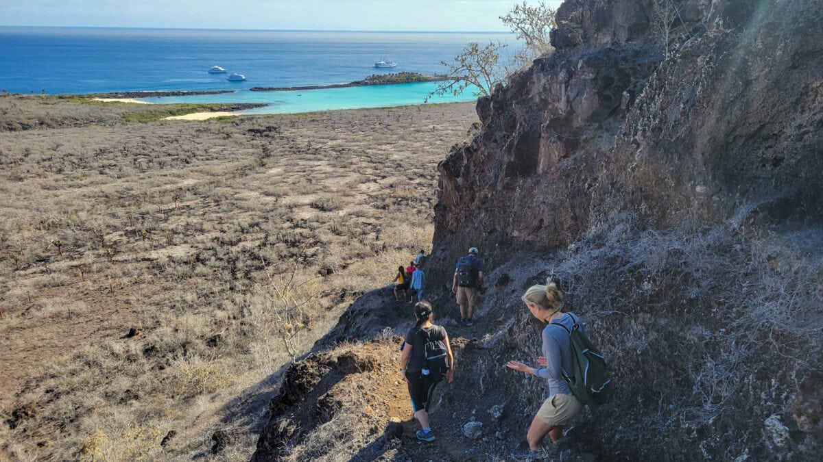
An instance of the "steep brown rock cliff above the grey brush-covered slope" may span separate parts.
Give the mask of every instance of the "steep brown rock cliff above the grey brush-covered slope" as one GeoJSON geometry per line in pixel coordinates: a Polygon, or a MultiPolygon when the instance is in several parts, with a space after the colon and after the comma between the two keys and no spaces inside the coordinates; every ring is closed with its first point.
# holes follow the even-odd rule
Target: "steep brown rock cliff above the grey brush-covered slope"
{"type": "Polygon", "coordinates": [[[663,62],[651,2],[564,2],[556,53],[478,101],[479,134],[439,165],[438,256],[565,247],[615,210],[664,227],[820,214],[814,2],[681,4],[663,62]]]}

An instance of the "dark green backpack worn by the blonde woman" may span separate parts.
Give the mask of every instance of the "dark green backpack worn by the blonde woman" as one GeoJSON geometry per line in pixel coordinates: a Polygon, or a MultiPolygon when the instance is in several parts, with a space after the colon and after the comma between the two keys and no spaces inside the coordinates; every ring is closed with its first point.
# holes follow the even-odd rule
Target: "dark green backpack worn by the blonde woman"
{"type": "Polygon", "coordinates": [[[551,323],[552,326],[562,327],[571,340],[571,372],[574,376],[570,377],[567,371],[562,371],[563,379],[581,404],[588,404],[594,409],[605,403],[611,394],[611,374],[606,359],[580,330],[577,316],[571,313],[569,316],[574,320],[571,330],[560,322],[551,323]]]}

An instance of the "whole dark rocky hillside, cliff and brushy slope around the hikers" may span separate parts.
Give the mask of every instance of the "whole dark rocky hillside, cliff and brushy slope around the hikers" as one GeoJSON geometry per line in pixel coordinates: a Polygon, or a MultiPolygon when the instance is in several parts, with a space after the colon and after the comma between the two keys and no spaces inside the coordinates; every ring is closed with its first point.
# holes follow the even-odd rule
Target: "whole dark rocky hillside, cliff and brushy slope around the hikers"
{"type": "MultiPolygon", "coordinates": [[[[560,283],[616,382],[610,403],[567,429],[556,458],[819,455],[820,3],[657,2],[678,7],[667,44],[655,3],[564,2],[556,52],[479,100],[477,136],[439,165],[427,293],[458,346],[455,382],[432,412],[439,442],[418,446],[401,412],[401,427],[364,419],[368,450],[314,456],[515,460],[545,388],[503,364],[535,363],[542,326],[519,295],[546,280],[560,283]],[[449,285],[471,246],[488,283],[467,328],[449,320],[449,285]]],[[[367,294],[317,349],[404,334],[410,321],[391,303],[367,294]]],[[[278,440],[275,424],[320,404],[277,408],[258,457],[322,437],[312,427],[278,440]]]]}

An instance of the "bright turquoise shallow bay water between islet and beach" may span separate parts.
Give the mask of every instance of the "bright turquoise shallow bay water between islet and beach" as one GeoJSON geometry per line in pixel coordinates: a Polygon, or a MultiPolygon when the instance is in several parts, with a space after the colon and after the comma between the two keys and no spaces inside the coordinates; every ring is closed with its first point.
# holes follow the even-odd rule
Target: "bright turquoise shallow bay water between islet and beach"
{"type": "MultiPolygon", "coordinates": [[[[333,109],[379,108],[423,104],[425,96],[435,90],[436,82],[400,85],[354,86],[326,90],[249,91],[221,95],[164,96],[142,98],[148,103],[267,103],[264,108],[241,111],[243,114],[308,113],[333,109]]],[[[472,101],[471,91],[454,97],[434,96],[430,103],[472,101]]]]}

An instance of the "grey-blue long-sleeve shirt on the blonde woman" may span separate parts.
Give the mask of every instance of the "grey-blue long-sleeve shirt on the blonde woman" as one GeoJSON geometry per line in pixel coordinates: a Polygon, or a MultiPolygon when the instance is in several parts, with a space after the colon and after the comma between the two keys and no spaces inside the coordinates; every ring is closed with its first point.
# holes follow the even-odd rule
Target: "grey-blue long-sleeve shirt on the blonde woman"
{"type": "MultiPolygon", "coordinates": [[[[576,317],[576,316],[575,316],[576,317]]],[[[555,322],[560,322],[570,330],[574,326],[574,320],[569,313],[555,322]]],[[[583,323],[579,321],[580,329],[583,330],[583,323]]],[[[543,356],[546,357],[546,367],[540,367],[534,371],[534,375],[546,379],[546,386],[549,387],[549,395],[562,393],[571,395],[569,385],[563,380],[562,371],[572,374],[571,340],[568,332],[560,326],[546,326],[543,329],[543,356]]]]}

